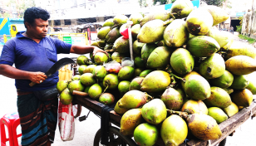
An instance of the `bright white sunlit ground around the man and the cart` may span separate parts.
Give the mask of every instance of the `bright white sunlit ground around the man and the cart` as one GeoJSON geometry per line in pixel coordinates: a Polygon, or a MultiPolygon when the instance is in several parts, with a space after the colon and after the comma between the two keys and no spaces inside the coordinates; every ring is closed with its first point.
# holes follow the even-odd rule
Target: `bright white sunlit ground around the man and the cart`
{"type": "MultiPolygon", "coordinates": [[[[239,41],[238,37],[235,37],[239,41]]],[[[246,42],[244,42],[246,43],[246,42]]],[[[0,51],[2,47],[0,47],[0,51]]],[[[256,75],[252,75],[255,77],[256,75]]],[[[14,80],[0,75],[0,117],[3,114],[17,111],[16,100],[17,94],[14,87],[14,80]]],[[[82,109],[81,115],[88,113],[86,108],[82,109]]],[[[89,114],[88,119],[79,122],[75,120],[76,133],[72,141],[63,142],[59,136],[58,129],[56,130],[56,140],[53,146],[92,146],[96,131],[100,129],[100,119],[93,113],[89,114]]],[[[18,132],[20,130],[17,130],[18,132]]],[[[227,146],[254,146],[256,138],[256,118],[247,120],[239,129],[236,130],[233,137],[228,137],[227,146]]]]}

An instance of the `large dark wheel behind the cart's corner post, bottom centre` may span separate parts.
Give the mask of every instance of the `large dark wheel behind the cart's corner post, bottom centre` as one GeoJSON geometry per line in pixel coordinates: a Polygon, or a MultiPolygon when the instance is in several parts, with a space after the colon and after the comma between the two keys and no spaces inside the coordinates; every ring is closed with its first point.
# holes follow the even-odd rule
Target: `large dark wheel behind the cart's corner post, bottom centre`
{"type": "MultiPolygon", "coordinates": [[[[121,134],[120,129],[117,129],[116,127],[110,127],[110,132],[108,135],[108,139],[109,142],[107,144],[107,146],[137,146],[137,144],[135,144],[135,141],[133,139],[131,139],[128,136],[125,136],[123,134],[121,134]]],[[[96,135],[94,137],[94,142],[93,142],[93,146],[101,146],[101,129],[99,129],[96,132],[96,135]]]]}

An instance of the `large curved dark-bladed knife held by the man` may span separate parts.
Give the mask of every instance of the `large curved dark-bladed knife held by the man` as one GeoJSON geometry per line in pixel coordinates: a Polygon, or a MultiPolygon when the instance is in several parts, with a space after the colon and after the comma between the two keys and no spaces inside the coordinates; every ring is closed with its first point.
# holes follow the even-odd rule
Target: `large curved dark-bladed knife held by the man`
{"type": "MultiPolygon", "coordinates": [[[[56,71],[61,69],[63,66],[66,66],[68,64],[75,63],[71,58],[62,58],[59,61],[55,62],[55,64],[45,73],[47,76],[51,76],[54,74],[56,71]]],[[[37,83],[31,82],[29,85],[33,86],[36,85],[37,83]]]]}

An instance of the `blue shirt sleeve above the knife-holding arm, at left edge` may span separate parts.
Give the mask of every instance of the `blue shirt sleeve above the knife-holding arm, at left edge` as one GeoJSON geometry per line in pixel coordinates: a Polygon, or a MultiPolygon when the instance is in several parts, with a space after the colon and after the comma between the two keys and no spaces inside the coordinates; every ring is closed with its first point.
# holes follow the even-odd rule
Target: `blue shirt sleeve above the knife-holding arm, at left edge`
{"type": "Polygon", "coordinates": [[[2,54],[0,56],[0,64],[12,66],[15,61],[15,42],[12,40],[2,47],[2,54]]]}

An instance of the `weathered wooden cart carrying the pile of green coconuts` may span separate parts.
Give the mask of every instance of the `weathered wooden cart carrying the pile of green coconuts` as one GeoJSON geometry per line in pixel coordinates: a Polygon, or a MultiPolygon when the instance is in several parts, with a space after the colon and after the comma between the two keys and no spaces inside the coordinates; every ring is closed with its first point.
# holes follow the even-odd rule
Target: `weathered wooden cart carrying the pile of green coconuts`
{"type": "MultiPolygon", "coordinates": [[[[84,92],[74,91],[73,95],[75,95],[73,103],[82,105],[86,109],[91,110],[95,114],[101,116],[102,108],[105,105],[101,104],[96,100],[92,100],[84,92]]],[[[256,114],[256,100],[254,100],[253,103],[248,108],[244,108],[243,110],[240,110],[239,113],[234,114],[234,116],[230,117],[229,119],[219,124],[219,129],[221,129],[222,131],[222,137],[219,139],[210,140],[210,144],[224,145],[226,137],[229,136],[230,134],[233,134],[235,129],[239,128],[239,126],[243,124],[250,117],[254,117],[255,114],[256,114]]],[[[117,127],[120,127],[121,115],[116,114],[116,112],[112,110],[110,112],[110,122],[111,124],[115,124],[117,127]]],[[[122,135],[119,132],[119,129],[116,127],[111,126],[110,134],[116,135],[116,139],[114,139],[113,137],[111,138],[111,136],[109,135],[110,139],[114,139],[114,141],[115,140],[117,141],[116,143],[125,141],[126,144],[130,146],[133,146],[133,145],[136,146],[135,141],[133,139],[131,139],[129,136],[122,135]]],[[[98,146],[100,140],[101,140],[101,129],[99,129],[98,132],[96,133],[96,136],[94,139],[94,146],[98,146]]],[[[180,144],[180,145],[181,146],[207,146],[208,144],[209,144],[209,141],[206,141],[206,140],[190,139],[190,141],[187,142],[186,144],[180,144]]],[[[165,144],[162,139],[159,139],[155,145],[164,146],[165,144]]]]}

